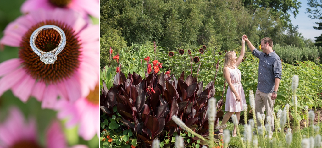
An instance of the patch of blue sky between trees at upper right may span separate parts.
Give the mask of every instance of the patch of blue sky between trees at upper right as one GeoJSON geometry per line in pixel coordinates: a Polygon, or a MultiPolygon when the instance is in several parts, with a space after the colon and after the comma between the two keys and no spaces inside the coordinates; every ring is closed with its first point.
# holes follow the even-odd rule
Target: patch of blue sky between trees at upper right
{"type": "Polygon", "coordinates": [[[296,15],[296,18],[294,18],[294,15],[291,14],[291,22],[294,26],[298,25],[298,31],[302,33],[302,35],[307,39],[315,40],[314,37],[320,36],[322,33],[322,30],[315,30],[313,29],[313,26],[318,26],[315,24],[315,22],[319,22],[318,19],[312,20],[308,17],[310,15],[306,12],[306,8],[308,8],[308,1],[307,0],[298,0],[299,2],[302,2],[301,7],[299,8],[298,14],[296,15]]]}

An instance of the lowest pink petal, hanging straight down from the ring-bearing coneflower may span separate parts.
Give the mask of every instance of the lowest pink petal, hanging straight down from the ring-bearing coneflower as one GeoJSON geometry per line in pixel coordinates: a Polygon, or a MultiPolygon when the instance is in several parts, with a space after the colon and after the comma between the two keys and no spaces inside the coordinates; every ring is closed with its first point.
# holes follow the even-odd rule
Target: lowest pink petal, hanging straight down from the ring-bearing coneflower
{"type": "Polygon", "coordinates": [[[46,87],[43,94],[43,102],[41,104],[42,108],[54,109],[57,102],[58,92],[55,85],[50,84],[46,87]]]}

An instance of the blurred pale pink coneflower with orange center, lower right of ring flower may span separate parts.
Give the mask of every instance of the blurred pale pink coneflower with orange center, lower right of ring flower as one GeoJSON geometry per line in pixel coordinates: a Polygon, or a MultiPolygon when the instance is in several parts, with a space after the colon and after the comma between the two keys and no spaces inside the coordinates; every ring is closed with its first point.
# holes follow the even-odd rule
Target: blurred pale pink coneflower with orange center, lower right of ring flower
{"type": "Polygon", "coordinates": [[[56,106],[59,111],[57,117],[65,119],[70,117],[66,127],[79,125],[79,135],[85,140],[92,139],[95,134],[99,136],[99,84],[91,90],[87,97],[81,97],[75,103],[61,100],[56,106]]]}

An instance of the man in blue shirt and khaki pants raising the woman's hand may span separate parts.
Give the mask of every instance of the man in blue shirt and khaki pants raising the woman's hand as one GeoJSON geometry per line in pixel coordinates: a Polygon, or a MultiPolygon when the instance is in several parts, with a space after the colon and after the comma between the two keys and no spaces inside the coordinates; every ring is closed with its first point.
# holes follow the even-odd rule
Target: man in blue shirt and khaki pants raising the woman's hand
{"type": "MultiPolygon", "coordinates": [[[[261,52],[251,44],[247,35],[243,35],[243,38],[251,49],[252,54],[260,59],[257,90],[255,93],[255,112],[263,114],[266,108],[266,117],[270,116],[271,118],[270,126],[272,132],[268,135],[271,137],[273,135],[274,127],[273,106],[277,97],[279,81],[282,79],[282,62],[273,50],[272,39],[263,38],[260,40],[261,49],[263,50],[263,52],[261,52]]],[[[261,125],[259,120],[257,120],[257,125],[261,125]]]]}

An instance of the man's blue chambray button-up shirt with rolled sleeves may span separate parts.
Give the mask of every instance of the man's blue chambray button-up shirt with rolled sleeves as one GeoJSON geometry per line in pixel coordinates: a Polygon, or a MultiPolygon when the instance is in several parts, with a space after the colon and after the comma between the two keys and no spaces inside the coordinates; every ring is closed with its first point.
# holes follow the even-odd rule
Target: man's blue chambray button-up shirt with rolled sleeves
{"type": "Polygon", "coordinates": [[[275,78],[282,79],[282,62],[275,51],[266,54],[254,49],[252,54],[260,59],[257,88],[263,93],[273,93],[275,78]]]}

